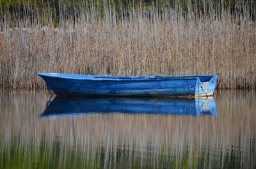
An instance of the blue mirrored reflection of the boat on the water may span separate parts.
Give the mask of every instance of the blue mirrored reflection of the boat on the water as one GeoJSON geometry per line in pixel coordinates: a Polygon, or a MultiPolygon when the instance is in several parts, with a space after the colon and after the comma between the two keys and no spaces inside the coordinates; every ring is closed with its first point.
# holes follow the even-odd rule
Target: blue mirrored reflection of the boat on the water
{"type": "Polygon", "coordinates": [[[213,98],[54,98],[42,117],[94,113],[217,115],[213,98]]]}

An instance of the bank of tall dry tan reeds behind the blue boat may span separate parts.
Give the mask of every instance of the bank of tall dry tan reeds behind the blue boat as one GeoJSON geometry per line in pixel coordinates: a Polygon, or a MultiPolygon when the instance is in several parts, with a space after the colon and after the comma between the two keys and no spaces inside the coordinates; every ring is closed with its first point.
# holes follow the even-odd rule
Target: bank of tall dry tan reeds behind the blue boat
{"type": "Polygon", "coordinates": [[[0,88],[43,89],[36,73],[56,72],[218,75],[219,88],[255,89],[255,11],[205,6],[1,9],[0,88]]]}

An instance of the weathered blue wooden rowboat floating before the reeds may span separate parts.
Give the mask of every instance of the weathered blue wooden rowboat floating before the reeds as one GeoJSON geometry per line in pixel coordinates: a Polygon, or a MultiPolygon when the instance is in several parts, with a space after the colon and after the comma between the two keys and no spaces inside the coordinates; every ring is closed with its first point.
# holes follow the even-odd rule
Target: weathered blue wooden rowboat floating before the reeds
{"type": "Polygon", "coordinates": [[[114,77],[38,73],[58,96],[212,96],[217,76],[114,77]]]}

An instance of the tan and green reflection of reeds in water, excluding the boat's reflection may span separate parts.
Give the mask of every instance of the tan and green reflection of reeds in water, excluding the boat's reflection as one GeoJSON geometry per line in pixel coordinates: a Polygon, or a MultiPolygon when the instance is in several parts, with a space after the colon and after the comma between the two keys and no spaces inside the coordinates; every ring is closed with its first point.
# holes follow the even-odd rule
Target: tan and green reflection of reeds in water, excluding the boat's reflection
{"type": "Polygon", "coordinates": [[[22,163],[33,159],[47,165],[52,159],[59,167],[74,161],[95,168],[255,166],[255,93],[216,93],[217,117],[94,114],[38,119],[47,98],[25,92],[1,96],[4,160],[12,161],[16,153],[22,163]]]}

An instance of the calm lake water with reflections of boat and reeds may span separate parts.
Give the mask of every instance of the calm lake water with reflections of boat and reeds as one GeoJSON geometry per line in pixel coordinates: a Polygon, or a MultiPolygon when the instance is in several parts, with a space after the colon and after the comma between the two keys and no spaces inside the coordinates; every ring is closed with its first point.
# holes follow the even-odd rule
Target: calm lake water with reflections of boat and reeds
{"type": "Polygon", "coordinates": [[[256,92],[50,97],[0,92],[0,168],[256,168],[256,92]]]}

